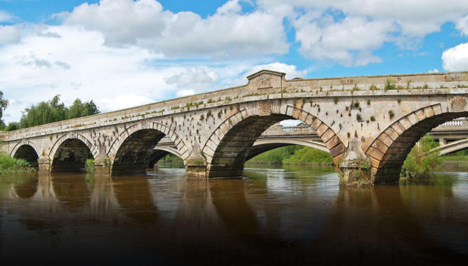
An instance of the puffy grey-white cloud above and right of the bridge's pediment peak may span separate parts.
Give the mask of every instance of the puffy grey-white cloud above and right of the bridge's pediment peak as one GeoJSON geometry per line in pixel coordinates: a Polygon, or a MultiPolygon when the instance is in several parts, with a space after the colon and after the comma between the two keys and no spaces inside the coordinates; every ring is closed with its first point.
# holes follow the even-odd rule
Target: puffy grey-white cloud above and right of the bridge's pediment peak
{"type": "Polygon", "coordinates": [[[345,66],[379,62],[380,58],[371,51],[390,40],[390,32],[394,30],[389,20],[352,16],[341,21],[303,16],[293,24],[302,55],[318,60],[331,59],[345,66]]]}

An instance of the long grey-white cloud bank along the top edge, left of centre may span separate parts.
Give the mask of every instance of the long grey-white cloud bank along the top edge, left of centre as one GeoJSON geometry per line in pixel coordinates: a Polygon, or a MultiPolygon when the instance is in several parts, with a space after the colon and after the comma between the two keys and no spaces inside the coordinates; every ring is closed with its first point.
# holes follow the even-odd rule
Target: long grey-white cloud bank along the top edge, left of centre
{"type": "Polygon", "coordinates": [[[232,0],[203,19],[193,12],[163,10],[156,0],[100,0],[96,4],[83,3],[56,17],[66,25],[102,32],[106,45],[137,45],[169,57],[224,58],[288,52],[282,17],[260,10],[240,11],[238,2],[232,0]]]}

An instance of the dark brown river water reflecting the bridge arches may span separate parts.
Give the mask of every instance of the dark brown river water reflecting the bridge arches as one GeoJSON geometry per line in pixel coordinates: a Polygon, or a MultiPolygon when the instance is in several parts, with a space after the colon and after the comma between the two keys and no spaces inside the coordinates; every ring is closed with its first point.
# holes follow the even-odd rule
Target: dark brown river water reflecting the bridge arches
{"type": "Polygon", "coordinates": [[[468,173],[346,189],[330,167],[250,167],[1,176],[1,265],[467,265],[468,173]]]}

